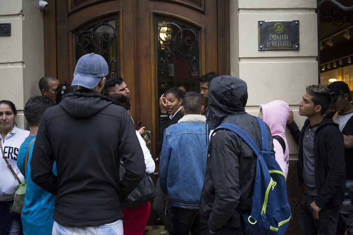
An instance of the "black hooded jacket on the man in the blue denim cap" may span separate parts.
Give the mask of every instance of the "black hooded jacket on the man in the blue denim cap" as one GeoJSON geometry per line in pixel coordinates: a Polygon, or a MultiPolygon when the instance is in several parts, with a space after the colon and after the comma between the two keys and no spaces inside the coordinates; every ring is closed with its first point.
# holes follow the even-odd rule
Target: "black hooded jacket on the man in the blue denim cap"
{"type": "Polygon", "coordinates": [[[44,112],[31,178],[56,194],[56,222],[98,226],[123,218],[120,201],[141,181],[145,169],[130,115],[105,96],[78,90],[44,112]],[[121,182],[120,159],[126,168],[121,182]],[[53,161],[57,177],[52,174],[53,161]]]}

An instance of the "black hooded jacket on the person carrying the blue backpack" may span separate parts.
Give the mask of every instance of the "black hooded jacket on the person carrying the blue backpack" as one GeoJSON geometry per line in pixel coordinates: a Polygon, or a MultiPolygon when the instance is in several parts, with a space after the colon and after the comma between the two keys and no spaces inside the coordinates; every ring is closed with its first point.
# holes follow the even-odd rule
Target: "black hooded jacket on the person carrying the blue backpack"
{"type": "MultiPolygon", "coordinates": [[[[210,113],[207,121],[211,128],[224,122],[236,124],[261,147],[258,121],[245,112],[246,83],[237,77],[221,76],[212,80],[208,91],[210,113]]],[[[273,149],[269,128],[268,137],[273,149]]],[[[229,130],[217,130],[210,141],[200,203],[200,213],[208,220],[210,230],[241,226],[239,210],[251,210],[255,167],[256,155],[238,135],[229,130]]]]}

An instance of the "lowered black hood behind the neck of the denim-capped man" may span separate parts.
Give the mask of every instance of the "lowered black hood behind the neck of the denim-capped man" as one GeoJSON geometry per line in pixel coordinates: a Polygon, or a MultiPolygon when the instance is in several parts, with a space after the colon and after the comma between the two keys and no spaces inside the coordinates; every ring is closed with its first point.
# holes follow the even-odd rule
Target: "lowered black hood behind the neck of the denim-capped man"
{"type": "Polygon", "coordinates": [[[96,91],[80,89],[66,95],[59,105],[74,118],[88,118],[110,104],[112,101],[108,97],[96,91]]]}

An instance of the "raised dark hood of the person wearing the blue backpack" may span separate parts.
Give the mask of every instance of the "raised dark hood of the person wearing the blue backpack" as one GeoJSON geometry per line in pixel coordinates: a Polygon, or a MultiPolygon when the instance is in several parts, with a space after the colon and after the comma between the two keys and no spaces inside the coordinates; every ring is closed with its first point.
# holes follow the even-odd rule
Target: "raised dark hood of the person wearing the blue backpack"
{"type": "Polygon", "coordinates": [[[246,82],[230,75],[215,77],[208,87],[210,129],[216,128],[229,115],[245,113],[247,101],[246,82]]]}

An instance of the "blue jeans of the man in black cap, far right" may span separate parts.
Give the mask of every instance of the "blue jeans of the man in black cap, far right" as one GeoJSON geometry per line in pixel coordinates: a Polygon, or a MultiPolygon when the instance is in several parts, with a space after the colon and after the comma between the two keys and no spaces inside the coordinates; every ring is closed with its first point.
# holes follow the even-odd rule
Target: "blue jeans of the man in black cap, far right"
{"type": "MultiPolygon", "coordinates": [[[[353,180],[345,181],[344,200],[353,202],[353,180]]],[[[347,235],[353,235],[353,214],[340,214],[336,235],[343,235],[345,230],[347,235]]]]}

